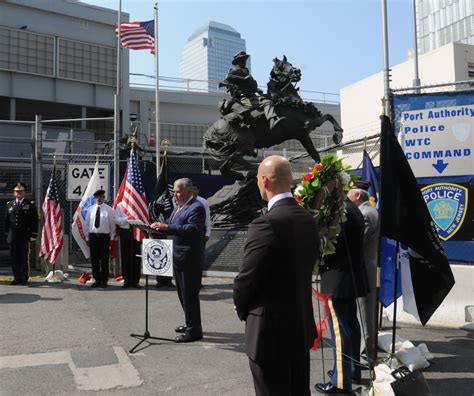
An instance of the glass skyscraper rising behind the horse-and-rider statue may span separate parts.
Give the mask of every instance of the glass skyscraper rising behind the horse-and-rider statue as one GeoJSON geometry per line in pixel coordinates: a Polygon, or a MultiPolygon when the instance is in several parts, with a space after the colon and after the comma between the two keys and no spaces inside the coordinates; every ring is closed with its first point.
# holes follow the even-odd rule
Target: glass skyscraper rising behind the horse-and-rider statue
{"type": "MultiPolygon", "coordinates": [[[[245,50],[245,40],[237,30],[210,21],[188,38],[179,65],[181,78],[201,81],[184,81],[183,85],[193,90],[216,91],[218,82],[232,67],[234,54],[245,50]]],[[[250,59],[247,67],[250,69],[250,59]]]]}

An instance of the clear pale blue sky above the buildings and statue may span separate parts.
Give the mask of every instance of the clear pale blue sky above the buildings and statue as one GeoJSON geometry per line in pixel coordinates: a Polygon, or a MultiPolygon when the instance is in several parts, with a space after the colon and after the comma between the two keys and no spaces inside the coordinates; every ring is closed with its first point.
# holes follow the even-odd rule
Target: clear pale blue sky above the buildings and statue
{"type": "MultiPolygon", "coordinates": [[[[82,0],[118,9],[119,0],[82,0]]],[[[153,19],[154,1],[122,0],[130,21],[153,19]]],[[[388,0],[389,63],[413,47],[412,0],[388,0]]],[[[301,90],[339,90],[383,69],[382,0],[161,0],[160,76],[179,77],[188,37],[210,20],[236,29],[246,40],[252,75],[266,85],[272,59],[286,55],[302,71],[301,90]]],[[[130,51],[130,72],[154,74],[153,56],[130,51]]],[[[149,82],[137,80],[131,82],[149,82]]]]}

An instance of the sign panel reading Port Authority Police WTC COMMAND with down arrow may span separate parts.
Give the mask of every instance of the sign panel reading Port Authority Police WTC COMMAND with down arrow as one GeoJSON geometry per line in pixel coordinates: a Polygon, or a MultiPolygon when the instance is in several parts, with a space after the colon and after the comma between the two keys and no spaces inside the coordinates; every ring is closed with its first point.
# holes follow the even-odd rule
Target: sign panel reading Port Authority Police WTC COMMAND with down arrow
{"type": "Polygon", "coordinates": [[[406,111],[400,125],[416,177],[474,174],[474,105],[406,111]]]}

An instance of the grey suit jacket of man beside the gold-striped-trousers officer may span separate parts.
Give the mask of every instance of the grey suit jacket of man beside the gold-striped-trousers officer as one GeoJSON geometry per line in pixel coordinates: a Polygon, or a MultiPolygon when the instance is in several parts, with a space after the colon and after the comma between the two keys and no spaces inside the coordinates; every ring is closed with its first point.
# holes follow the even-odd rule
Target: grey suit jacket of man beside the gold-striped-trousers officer
{"type": "Polygon", "coordinates": [[[379,241],[379,213],[369,201],[359,205],[364,217],[364,261],[369,278],[370,291],[375,290],[377,283],[377,248],[379,241]]]}

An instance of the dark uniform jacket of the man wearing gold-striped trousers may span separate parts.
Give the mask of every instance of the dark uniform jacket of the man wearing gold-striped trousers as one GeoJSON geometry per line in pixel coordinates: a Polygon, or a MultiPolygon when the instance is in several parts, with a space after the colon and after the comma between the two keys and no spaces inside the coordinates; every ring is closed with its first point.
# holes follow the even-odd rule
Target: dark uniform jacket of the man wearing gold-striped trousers
{"type": "Polygon", "coordinates": [[[364,217],[348,199],[345,207],[347,221],[337,237],[336,253],[324,257],[321,267],[321,292],[332,298],[352,299],[368,292],[363,256],[364,217]]]}

